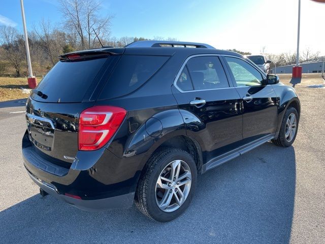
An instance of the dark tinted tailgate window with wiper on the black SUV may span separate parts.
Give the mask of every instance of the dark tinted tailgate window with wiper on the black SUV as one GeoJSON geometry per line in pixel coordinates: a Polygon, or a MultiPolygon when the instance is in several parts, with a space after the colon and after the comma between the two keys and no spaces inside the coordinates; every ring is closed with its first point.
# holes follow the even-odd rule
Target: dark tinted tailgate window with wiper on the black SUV
{"type": "Polygon", "coordinates": [[[31,98],[40,102],[81,102],[90,84],[98,82],[94,79],[107,59],[60,60],[36,88],[47,98],[36,94],[32,94],[31,98]]]}

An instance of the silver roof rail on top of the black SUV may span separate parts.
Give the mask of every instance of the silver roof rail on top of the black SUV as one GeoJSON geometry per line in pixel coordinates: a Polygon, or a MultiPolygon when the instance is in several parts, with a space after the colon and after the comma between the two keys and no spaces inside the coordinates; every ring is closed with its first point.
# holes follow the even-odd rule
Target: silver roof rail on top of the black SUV
{"type": "Polygon", "coordinates": [[[125,46],[128,47],[187,47],[187,48],[212,48],[214,47],[197,42],[172,42],[172,41],[137,41],[125,46]]]}

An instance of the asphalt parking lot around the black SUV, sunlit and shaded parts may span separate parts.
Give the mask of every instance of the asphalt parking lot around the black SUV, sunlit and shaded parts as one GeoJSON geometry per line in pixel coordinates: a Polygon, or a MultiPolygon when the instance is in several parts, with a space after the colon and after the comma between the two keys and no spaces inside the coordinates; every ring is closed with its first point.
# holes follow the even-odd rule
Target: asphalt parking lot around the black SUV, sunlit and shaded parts
{"type": "Polygon", "coordinates": [[[325,243],[325,88],[295,86],[302,104],[288,148],[266,143],[198,180],[184,215],[169,223],[128,210],[85,212],[42,198],[21,157],[24,102],[0,103],[2,243],[325,243]]]}

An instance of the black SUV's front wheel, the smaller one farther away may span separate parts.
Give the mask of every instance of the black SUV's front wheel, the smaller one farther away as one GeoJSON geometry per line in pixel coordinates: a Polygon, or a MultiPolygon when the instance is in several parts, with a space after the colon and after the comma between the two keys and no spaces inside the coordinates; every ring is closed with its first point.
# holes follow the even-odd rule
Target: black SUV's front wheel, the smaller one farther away
{"type": "Polygon", "coordinates": [[[281,122],[279,136],[277,139],[273,139],[272,142],[275,145],[282,146],[282,147],[287,147],[292,145],[297,136],[298,124],[299,124],[299,115],[297,110],[294,107],[287,108],[281,122]],[[290,124],[290,120],[293,120],[291,124],[290,124]]]}

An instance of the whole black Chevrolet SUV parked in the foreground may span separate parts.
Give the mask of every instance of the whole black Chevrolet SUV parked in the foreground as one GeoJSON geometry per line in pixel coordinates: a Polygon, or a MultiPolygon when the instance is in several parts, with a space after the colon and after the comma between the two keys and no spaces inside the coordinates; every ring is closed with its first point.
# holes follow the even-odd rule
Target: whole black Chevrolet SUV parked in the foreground
{"type": "Polygon", "coordinates": [[[164,222],[198,174],[269,140],[290,146],[299,115],[294,88],[238,53],[142,41],[61,55],[27,100],[22,154],[43,196],[84,210],[135,200],[164,222]]]}

